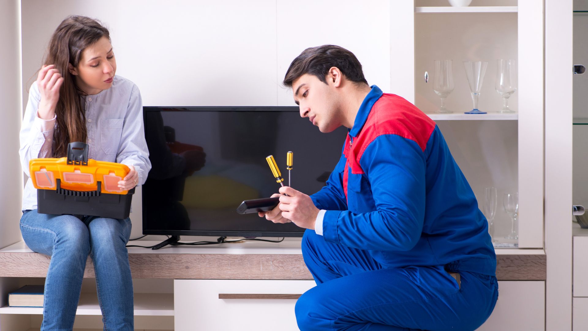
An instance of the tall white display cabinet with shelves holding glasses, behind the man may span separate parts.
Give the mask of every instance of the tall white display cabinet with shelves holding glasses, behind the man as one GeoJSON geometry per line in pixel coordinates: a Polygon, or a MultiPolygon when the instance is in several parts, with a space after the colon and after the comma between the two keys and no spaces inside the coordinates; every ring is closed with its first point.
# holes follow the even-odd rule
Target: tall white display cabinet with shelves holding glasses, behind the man
{"type": "Polygon", "coordinates": [[[500,4],[509,6],[493,6],[491,1],[477,1],[469,7],[451,7],[439,6],[443,5],[439,1],[415,0],[414,4],[414,9],[395,5],[390,11],[390,47],[394,54],[391,61],[413,64],[414,69],[412,77],[391,72],[390,79],[414,86],[412,95],[402,96],[413,98],[415,105],[439,125],[480,207],[484,201],[483,188],[497,188],[495,238],[507,241],[503,237],[510,231],[510,217],[503,210],[502,195],[518,192],[518,247],[543,248],[542,2],[503,1],[500,4]],[[393,17],[401,15],[397,11],[414,17],[414,31],[412,26],[407,27],[407,22],[393,25],[393,17]],[[398,37],[392,39],[411,33],[413,39],[402,38],[400,45],[396,44],[398,37]],[[433,91],[435,59],[453,60],[455,89],[446,100],[453,114],[435,113],[440,104],[433,91]],[[497,113],[502,105],[495,90],[497,59],[515,59],[517,64],[517,91],[509,99],[515,114],[497,113]],[[463,114],[473,108],[463,61],[488,62],[479,97],[479,109],[488,114],[463,114]]]}

